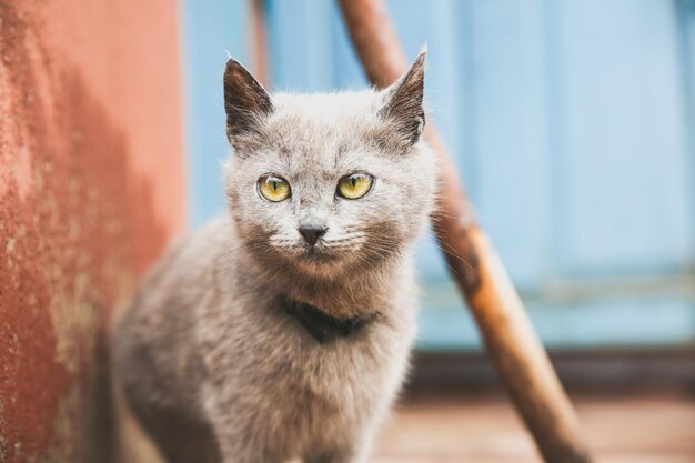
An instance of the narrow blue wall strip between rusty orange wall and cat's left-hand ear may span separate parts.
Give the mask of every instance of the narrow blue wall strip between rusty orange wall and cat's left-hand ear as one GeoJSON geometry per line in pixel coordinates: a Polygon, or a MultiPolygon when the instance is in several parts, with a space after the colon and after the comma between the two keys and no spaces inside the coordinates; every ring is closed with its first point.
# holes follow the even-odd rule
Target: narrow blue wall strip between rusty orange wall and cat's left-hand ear
{"type": "Polygon", "coordinates": [[[231,153],[225,135],[222,76],[229,57],[249,61],[245,0],[185,0],[181,11],[188,211],[193,228],[225,204],[221,162],[231,153]]]}

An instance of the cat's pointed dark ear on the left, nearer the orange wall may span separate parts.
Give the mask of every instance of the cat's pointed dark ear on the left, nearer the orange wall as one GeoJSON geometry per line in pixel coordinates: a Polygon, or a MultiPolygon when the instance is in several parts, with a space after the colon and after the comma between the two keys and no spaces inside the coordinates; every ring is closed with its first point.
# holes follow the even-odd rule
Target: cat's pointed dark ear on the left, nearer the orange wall
{"type": "Polygon", "coordinates": [[[226,62],[224,71],[224,110],[226,138],[253,132],[260,118],[273,111],[273,103],[251,72],[234,59],[226,62]]]}

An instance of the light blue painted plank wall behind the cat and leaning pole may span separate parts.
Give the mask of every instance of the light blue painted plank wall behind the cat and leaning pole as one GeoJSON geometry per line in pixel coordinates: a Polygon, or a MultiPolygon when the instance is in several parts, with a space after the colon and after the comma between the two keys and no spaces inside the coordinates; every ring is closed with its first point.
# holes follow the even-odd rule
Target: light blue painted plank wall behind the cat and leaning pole
{"type": "MultiPolygon", "coordinates": [[[[335,3],[266,0],[273,89],[365,85],[335,3]]],[[[695,0],[389,1],[426,101],[543,340],[695,341],[695,0]]],[[[185,3],[194,225],[222,208],[221,76],[242,1],[185,3]]],[[[434,240],[421,346],[479,345],[434,240]]]]}

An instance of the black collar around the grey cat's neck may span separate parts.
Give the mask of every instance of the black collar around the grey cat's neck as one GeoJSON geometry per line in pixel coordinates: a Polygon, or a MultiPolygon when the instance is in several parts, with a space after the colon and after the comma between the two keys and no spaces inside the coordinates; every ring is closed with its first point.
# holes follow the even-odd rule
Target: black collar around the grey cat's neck
{"type": "Polygon", "coordinates": [[[283,298],[282,305],[321,344],[335,338],[348,338],[365,328],[379,315],[377,313],[370,313],[342,319],[329,315],[314,305],[288,298],[283,298]]]}

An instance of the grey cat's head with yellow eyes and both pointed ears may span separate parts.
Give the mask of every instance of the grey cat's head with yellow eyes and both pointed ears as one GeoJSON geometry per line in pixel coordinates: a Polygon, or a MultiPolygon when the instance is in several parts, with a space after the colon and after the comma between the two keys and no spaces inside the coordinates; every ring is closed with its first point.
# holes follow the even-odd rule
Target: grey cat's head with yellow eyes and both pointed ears
{"type": "Polygon", "coordinates": [[[397,259],[432,208],[421,141],[425,52],[384,90],[269,95],[224,73],[225,188],[238,234],[268,271],[335,279],[397,259]]]}

